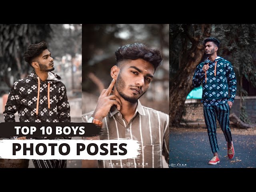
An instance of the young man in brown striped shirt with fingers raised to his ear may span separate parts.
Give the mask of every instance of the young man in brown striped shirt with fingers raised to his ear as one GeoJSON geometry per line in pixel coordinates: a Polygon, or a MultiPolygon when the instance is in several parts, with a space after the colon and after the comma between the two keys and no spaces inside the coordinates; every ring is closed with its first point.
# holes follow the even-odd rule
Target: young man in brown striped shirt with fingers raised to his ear
{"type": "Polygon", "coordinates": [[[142,106],[139,101],[148,90],[162,56],[141,43],[119,47],[115,54],[117,63],[110,72],[110,86],[100,94],[96,109],[82,115],[82,119],[102,125],[104,134],[94,139],[137,140],[142,145],[140,157],[82,160],[82,167],[162,168],[162,155],[167,163],[169,160],[169,116],[142,106]]]}

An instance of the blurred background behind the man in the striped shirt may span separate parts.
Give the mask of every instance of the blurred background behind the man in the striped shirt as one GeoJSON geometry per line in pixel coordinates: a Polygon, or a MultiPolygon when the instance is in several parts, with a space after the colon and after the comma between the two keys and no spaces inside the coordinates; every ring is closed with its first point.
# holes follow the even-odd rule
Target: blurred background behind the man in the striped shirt
{"type": "Polygon", "coordinates": [[[169,113],[169,24],[83,24],[82,36],[83,114],[96,108],[101,91],[112,81],[110,69],[116,64],[116,49],[135,42],[157,48],[163,56],[140,102],[169,113]]]}

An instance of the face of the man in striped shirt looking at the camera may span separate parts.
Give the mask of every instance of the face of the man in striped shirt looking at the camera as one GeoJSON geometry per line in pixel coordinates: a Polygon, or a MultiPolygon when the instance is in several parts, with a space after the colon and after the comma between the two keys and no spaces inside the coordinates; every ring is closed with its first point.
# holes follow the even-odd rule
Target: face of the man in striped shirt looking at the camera
{"type": "Polygon", "coordinates": [[[116,79],[116,90],[124,100],[136,103],[148,90],[153,80],[154,66],[143,59],[127,61],[121,64],[116,79]]]}

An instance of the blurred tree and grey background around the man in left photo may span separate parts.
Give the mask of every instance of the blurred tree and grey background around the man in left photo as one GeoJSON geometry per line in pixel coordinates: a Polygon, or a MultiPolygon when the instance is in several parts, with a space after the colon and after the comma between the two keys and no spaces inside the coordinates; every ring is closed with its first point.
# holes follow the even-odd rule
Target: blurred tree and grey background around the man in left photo
{"type": "MultiPolygon", "coordinates": [[[[66,86],[71,122],[82,122],[82,24],[0,24],[0,122],[4,122],[4,106],[13,83],[33,70],[24,61],[24,52],[41,41],[54,58],[52,72],[66,86]]],[[[18,122],[18,113],[15,117],[18,122]]],[[[67,167],[81,167],[81,161],[68,160],[67,167]]],[[[34,168],[32,160],[29,168],[34,168]]]]}

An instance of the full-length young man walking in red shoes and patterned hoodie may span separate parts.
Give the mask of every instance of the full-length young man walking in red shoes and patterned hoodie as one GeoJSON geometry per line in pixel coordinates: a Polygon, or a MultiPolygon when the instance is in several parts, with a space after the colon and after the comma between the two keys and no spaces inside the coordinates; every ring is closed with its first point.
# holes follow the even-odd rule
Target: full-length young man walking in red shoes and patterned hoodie
{"type": "Polygon", "coordinates": [[[214,156],[208,162],[210,165],[220,162],[216,138],[216,117],[227,141],[228,158],[234,157],[229,112],[236,96],[236,75],[232,64],[217,56],[219,44],[216,38],[210,37],[204,40],[203,45],[208,58],[197,66],[193,77],[195,87],[199,87],[201,82],[203,84],[204,120],[214,156]]]}

